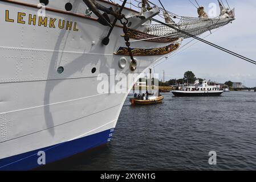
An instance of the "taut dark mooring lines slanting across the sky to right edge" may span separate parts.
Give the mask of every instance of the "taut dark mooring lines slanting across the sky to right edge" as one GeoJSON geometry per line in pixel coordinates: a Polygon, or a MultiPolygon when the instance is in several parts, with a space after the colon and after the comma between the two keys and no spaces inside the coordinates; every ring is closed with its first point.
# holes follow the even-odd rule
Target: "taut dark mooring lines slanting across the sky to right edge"
{"type": "Polygon", "coordinates": [[[172,25],[170,25],[170,24],[166,24],[166,23],[164,23],[164,22],[161,22],[160,20],[157,20],[157,19],[155,19],[155,18],[152,18],[152,20],[155,21],[155,22],[157,22],[157,23],[161,23],[161,24],[163,24],[163,25],[165,25],[165,26],[167,26],[167,27],[173,28],[174,30],[179,31],[179,32],[181,32],[182,34],[188,35],[188,36],[190,36],[191,38],[197,39],[197,40],[199,40],[199,41],[201,41],[201,42],[203,42],[203,43],[205,43],[205,44],[208,44],[209,46],[212,46],[212,47],[215,47],[215,48],[217,48],[217,49],[220,49],[221,51],[224,51],[224,52],[226,52],[226,53],[229,53],[230,55],[233,55],[233,56],[235,56],[235,57],[238,57],[238,58],[240,58],[240,59],[242,59],[242,60],[245,60],[245,61],[247,61],[247,62],[249,62],[249,63],[252,63],[252,64],[255,64],[255,65],[256,65],[256,61],[254,61],[254,60],[252,60],[252,59],[249,59],[249,58],[247,58],[247,57],[245,57],[245,56],[239,55],[238,53],[235,53],[235,52],[233,52],[233,51],[230,51],[229,49],[226,49],[226,48],[224,48],[224,47],[218,46],[217,44],[211,43],[211,42],[209,42],[209,41],[207,41],[207,40],[201,39],[201,38],[199,38],[198,36],[189,34],[188,32],[185,32],[185,31],[183,31],[183,30],[180,30],[179,28],[176,28],[176,27],[174,27],[174,26],[172,26],[172,25]]]}

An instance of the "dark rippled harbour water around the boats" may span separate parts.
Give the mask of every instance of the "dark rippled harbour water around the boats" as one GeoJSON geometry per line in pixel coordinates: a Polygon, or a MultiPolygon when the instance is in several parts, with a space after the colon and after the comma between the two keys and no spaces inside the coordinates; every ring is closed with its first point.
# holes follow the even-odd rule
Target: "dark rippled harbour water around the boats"
{"type": "Polygon", "coordinates": [[[256,93],[173,97],[162,104],[125,101],[110,144],[43,169],[245,170],[256,169],[256,93]],[[210,151],[217,164],[210,165],[210,151]]]}

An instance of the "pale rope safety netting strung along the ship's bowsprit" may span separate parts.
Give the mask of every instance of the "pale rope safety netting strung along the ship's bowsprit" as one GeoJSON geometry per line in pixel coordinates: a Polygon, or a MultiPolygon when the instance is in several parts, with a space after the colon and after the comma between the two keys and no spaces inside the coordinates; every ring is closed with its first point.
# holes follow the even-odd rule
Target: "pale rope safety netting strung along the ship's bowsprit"
{"type": "MultiPolygon", "coordinates": [[[[123,2],[123,0],[107,0],[109,2],[123,2]]],[[[148,1],[151,7],[157,6],[155,3],[148,1]]],[[[132,9],[136,8],[141,11],[143,14],[142,1],[141,0],[128,0],[127,6],[131,6],[132,9]]],[[[158,15],[158,19],[162,19],[162,22],[166,22],[166,19],[169,19],[169,23],[178,29],[188,32],[194,36],[201,35],[206,31],[210,31],[226,24],[232,22],[234,20],[234,10],[230,11],[231,16],[229,18],[196,18],[189,16],[179,16],[174,14],[168,10],[165,10],[162,7],[159,7],[160,14],[158,15]],[[169,17],[166,17],[169,16],[169,17]]],[[[181,32],[174,30],[173,28],[167,27],[163,24],[145,24],[145,32],[154,36],[167,36],[169,38],[189,38],[188,35],[184,35],[181,32]],[[168,36],[169,35],[169,36],[168,36]]]]}

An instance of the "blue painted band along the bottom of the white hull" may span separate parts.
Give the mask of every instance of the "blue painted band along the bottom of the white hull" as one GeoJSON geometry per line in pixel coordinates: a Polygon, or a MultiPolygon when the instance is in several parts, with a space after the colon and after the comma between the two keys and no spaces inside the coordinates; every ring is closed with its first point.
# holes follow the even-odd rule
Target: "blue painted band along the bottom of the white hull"
{"type": "Polygon", "coordinates": [[[40,167],[38,164],[38,152],[46,154],[46,164],[56,160],[67,158],[91,148],[110,142],[113,129],[102,131],[94,135],[75,139],[69,142],[55,144],[54,146],[40,148],[38,150],[0,159],[0,170],[2,171],[24,171],[40,167]]]}

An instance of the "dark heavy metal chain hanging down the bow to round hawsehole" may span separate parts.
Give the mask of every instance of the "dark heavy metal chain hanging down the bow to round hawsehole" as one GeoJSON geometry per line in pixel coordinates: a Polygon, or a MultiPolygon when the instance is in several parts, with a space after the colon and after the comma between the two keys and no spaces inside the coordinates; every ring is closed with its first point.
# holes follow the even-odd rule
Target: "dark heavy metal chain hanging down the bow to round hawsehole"
{"type": "Polygon", "coordinates": [[[123,15],[123,19],[125,19],[125,22],[123,22],[121,19],[120,19],[120,22],[121,22],[121,24],[123,24],[125,45],[127,46],[127,51],[129,52],[129,56],[131,57],[131,60],[132,60],[131,70],[135,71],[137,63],[136,63],[135,59],[133,58],[132,49],[130,47],[131,43],[129,42],[130,38],[128,36],[128,28],[127,28],[127,24],[128,24],[129,21],[128,21],[127,18],[125,18],[124,15],[123,15]]]}

